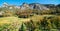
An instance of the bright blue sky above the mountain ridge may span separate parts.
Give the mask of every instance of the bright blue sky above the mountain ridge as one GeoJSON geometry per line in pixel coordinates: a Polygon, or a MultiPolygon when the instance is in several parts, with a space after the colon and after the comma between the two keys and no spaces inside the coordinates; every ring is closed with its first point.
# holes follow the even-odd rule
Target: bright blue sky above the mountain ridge
{"type": "Polygon", "coordinates": [[[6,2],[10,5],[21,5],[22,3],[60,4],[60,0],[0,0],[0,6],[6,2]]]}

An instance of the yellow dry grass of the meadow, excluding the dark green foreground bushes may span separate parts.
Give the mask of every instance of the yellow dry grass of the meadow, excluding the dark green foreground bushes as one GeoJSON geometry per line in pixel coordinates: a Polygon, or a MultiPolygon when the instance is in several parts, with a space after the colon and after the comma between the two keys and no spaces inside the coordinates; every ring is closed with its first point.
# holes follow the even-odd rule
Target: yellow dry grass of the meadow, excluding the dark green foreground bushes
{"type": "Polygon", "coordinates": [[[34,25],[36,26],[37,22],[40,23],[41,21],[44,21],[44,17],[46,17],[45,20],[47,20],[47,22],[49,23],[48,27],[50,28],[52,27],[50,23],[51,20],[53,20],[54,22],[59,20],[60,22],[60,16],[57,15],[35,15],[30,18],[2,17],[0,18],[0,26],[3,27],[5,24],[10,24],[7,29],[13,29],[14,31],[18,31],[22,23],[31,22],[32,20],[34,22],[34,25]]]}

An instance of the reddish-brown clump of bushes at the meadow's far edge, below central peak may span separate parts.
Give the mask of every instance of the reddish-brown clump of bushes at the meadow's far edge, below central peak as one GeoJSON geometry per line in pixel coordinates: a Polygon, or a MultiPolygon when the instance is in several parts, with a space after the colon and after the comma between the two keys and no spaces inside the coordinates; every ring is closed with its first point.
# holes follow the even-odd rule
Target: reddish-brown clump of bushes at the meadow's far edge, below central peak
{"type": "Polygon", "coordinates": [[[16,15],[20,18],[28,18],[28,17],[33,16],[31,10],[24,10],[24,11],[21,11],[21,12],[17,11],[16,15]]]}

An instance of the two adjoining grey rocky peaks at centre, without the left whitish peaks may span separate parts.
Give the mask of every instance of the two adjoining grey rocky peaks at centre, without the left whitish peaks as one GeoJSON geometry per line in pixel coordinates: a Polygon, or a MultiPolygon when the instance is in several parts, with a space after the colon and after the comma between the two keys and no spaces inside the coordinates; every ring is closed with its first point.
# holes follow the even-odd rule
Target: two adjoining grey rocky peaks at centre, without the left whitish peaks
{"type": "Polygon", "coordinates": [[[31,3],[31,4],[23,3],[20,6],[20,9],[21,10],[26,10],[26,9],[49,10],[49,8],[45,7],[44,5],[38,4],[38,3],[31,3]]]}

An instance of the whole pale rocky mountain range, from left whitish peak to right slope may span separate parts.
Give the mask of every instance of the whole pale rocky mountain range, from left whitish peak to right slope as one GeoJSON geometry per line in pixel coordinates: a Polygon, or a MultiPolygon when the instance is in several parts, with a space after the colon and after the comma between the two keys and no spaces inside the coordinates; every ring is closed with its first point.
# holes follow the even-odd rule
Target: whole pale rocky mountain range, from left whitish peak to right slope
{"type": "Polygon", "coordinates": [[[9,9],[16,8],[16,9],[21,9],[21,10],[28,10],[28,9],[49,10],[49,8],[47,8],[46,6],[39,4],[39,3],[30,3],[30,4],[23,3],[20,6],[15,6],[15,5],[10,5],[10,4],[4,2],[2,7],[9,8],[9,9]]]}

